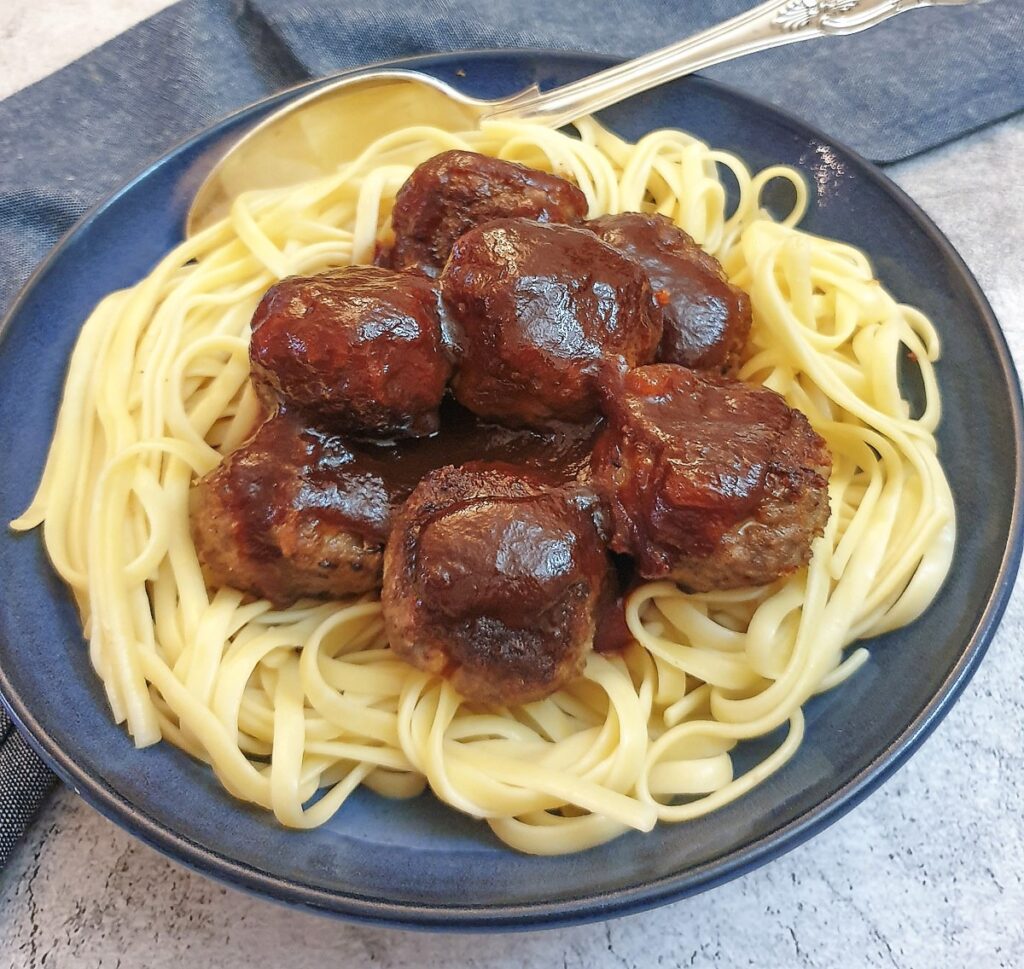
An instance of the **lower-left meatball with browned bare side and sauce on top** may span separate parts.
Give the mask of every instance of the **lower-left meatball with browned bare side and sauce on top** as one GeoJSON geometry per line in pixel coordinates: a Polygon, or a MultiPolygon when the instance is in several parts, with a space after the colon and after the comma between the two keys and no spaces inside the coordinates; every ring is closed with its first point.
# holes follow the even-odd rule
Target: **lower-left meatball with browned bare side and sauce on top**
{"type": "Polygon", "coordinates": [[[391,496],[341,438],[279,414],[193,490],[207,582],[275,606],[380,585],[391,496]]]}

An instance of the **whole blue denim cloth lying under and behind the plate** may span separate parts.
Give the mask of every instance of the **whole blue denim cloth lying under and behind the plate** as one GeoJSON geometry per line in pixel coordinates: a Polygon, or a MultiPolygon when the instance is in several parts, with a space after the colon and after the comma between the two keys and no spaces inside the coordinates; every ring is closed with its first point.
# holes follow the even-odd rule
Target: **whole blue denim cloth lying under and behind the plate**
{"type": "MultiPolygon", "coordinates": [[[[0,103],[0,314],[90,206],[231,110],[307,78],[453,49],[634,55],[753,0],[184,0],[0,103]]],[[[1024,3],[913,12],[708,74],[879,161],[1024,108],[1024,3]]],[[[0,347],[0,352],[3,352],[0,347]]],[[[0,867],[53,783],[0,713],[0,867]]]]}

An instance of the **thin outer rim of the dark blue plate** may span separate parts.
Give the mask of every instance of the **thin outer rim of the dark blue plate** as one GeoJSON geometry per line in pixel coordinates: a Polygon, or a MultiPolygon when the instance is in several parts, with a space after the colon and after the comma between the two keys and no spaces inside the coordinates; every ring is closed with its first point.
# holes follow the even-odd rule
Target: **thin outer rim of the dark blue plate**
{"type": "MultiPolygon", "coordinates": [[[[200,130],[181,138],[159,157],[148,162],[119,188],[92,206],[46,254],[18,291],[9,309],[0,321],[0,347],[11,322],[22,310],[39,281],[47,273],[73,239],[88,227],[104,211],[139,182],[167,164],[172,158],[189,148],[212,131],[231,122],[239,122],[258,109],[284,103],[300,92],[311,91],[342,77],[365,74],[385,68],[416,69],[441,66],[460,57],[473,59],[499,59],[501,57],[547,57],[551,59],[580,58],[600,66],[613,66],[626,58],[593,51],[571,51],[540,47],[481,48],[456,51],[438,51],[410,57],[377,61],[321,78],[303,81],[259,100],[228,112],[200,130]]],[[[822,831],[861,803],[895,773],[920,749],[924,741],[941,722],[959,698],[964,688],[977,671],[992,640],[1014,588],[1014,579],[1021,562],[1024,545],[1024,515],[1022,515],[1022,482],[1024,482],[1024,401],[1021,384],[1006,335],[987,297],[964,258],[952,243],[932,221],[929,215],[902,188],[892,181],[873,162],[855,152],[843,141],[825,134],[816,126],[803,121],[792,112],[778,108],[762,98],[748,94],[728,84],[690,75],[699,84],[724,94],[726,97],[745,101],[759,111],[774,115],[787,126],[821,142],[833,145],[848,155],[862,167],[862,173],[890,196],[898,208],[908,213],[918,227],[935,245],[958,271],[974,302],[985,335],[991,343],[1010,397],[1010,422],[1014,437],[1014,466],[1016,477],[1009,534],[999,560],[996,580],[985,599],[984,608],[974,631],[966,641],[955,666],[949,671],[941,686],[925,707],[899,735],[880,750],[865,767],[835,791],[829,797],[809,808],[788,824],[773,829],[754,844],[738,848],[711,861],[659,878],[627,887],[599,891],[557,901],[510,903],[504,905],[422,904],[395,901],[356,894],[340,894],[305,884],[298,880],[272,875],[254,866],[241,862],[214,849],[205,847],[184,834],[177,833],[152,817],[141,807],[124,798],[112,785],[92,776],[67,756],[56,741],[32,714],[29,706],[0,668],[0,704],[7,710],[22,735],[60,780],[77,795],[143,843],[156,848],[172,861],[226,883],[258,897],[301,909],[318,915],[344,918],[348,921],[404,929],[449,931],[508,931],[557,928],[594,922],[610,917],[631,915],[657,905],[698,894],[737,878],[785,852],[822,831]]]]}

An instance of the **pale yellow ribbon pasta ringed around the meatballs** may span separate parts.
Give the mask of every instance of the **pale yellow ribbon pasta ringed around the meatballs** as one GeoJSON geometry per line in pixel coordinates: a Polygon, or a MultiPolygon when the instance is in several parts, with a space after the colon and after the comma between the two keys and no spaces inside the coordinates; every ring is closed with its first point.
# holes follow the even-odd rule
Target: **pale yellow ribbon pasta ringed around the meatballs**
{"type": "Polygon", "coordinates": [[[934,598],[954,520],[930,322],[885,291],[862,252],[797,227],[808,199],[795,170],[752,174],[680,131],[632,144],[590,119],[577,129],[401,129],[330,176],[242,196],[95,308],[39,492],[13,526],[42,524],[137,746],[175,744],[293,828],[324,824],[360,785],[387,797],[429,785],[518,850],[577,851],[742,796],[796,752],[806,701],[867,658],[848,647],[934,598]],[[693,236],[752,299],[739,376],[803,411],[834,459],[831,516],[809,566],[739,591],[642,585],[624,652],[591,654],[566,688],[514,709],[468,704],[393,657],[375,597],[274,609],[208,589],[189,535],[190,486],[258,419],[248,337],[261,294],[370,261],[412,169],[460,148],[570,179],[591,216],[658,212],[693,236]],[[795,192],[780,220],[762,203],[773,179],[795,192]],[[904,360],[924,387],[918,414],[904,360]],[[734,746],[782,725],[774,752],[736,776],[734,746]]]}

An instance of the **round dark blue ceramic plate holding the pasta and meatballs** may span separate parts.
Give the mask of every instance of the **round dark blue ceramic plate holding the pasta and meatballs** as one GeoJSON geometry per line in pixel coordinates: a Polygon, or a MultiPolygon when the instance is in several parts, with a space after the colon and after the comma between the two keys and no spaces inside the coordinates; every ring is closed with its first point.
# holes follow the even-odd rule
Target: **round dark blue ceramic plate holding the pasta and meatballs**
{"type": "MultiPolygon", "coordinates": [[[[564,84],[608,62],[490,52],[406,66],[495,97],[534,82],[564,84]]],[[[0,519],[18,513],[35,489],[68,355],[89,310],[179,241],[188,202],[220,148],[303,90],[186,141],[85,218],[35,275],[0,347],[0,519]]],[[[945,343],[939,439],[962,522],[938,600],[911,627],[872,642],[864,669],[809,705],[798,756],[742,800],[583,854],[535,858],[500,846],[485,826],[429,795],[395,802],[360,791],[329,825],[287,831],[232,800],[170,745],[136,751],[111,721],[71,597],[39,536],[0,529],[0,689],[53,768],[109,817],[199,871],[321,912],[449,929],[565,924],[692,894],[794,847],[878,787],[949,709],[992,636],[1020,556],[1020,390],[977,284],[877,169],[746,96],[691,78],[603,118],[631,138],[680,127],[754,169],[796,166],[814,191],[806,227],[865,249],[896,297],[936,322],[945,343]]],[[[748,745],[739,768],[776,742],[748,745]]]]}

